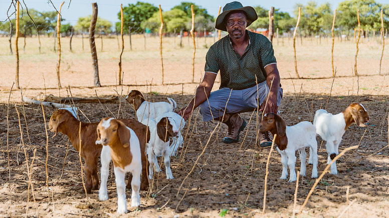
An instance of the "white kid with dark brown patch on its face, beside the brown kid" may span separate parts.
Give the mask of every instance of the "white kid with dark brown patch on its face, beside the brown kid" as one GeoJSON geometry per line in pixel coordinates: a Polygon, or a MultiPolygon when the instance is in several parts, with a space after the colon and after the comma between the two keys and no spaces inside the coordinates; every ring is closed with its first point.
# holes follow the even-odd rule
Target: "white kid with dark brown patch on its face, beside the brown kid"
{"type": "Polygon", "coordinates": [[[142,121],[143,124],[148,125],[150,129],[150,140],[147,143],[147,156],[149,162],[149,179],[153,177],[153,168],[155,172],[159,172],[159,165],[157,156],[163,155],[163,162],[165,164],[166,179],[173,179],[173,174],[170,169],[170,146],[169,137],[175,137],[178,133],[178,128],[175,122],[170,117],[163,117],[158,122],[152,118],[142,121]],[[153,167],[152,167],[153,166],[153,167]]]}

